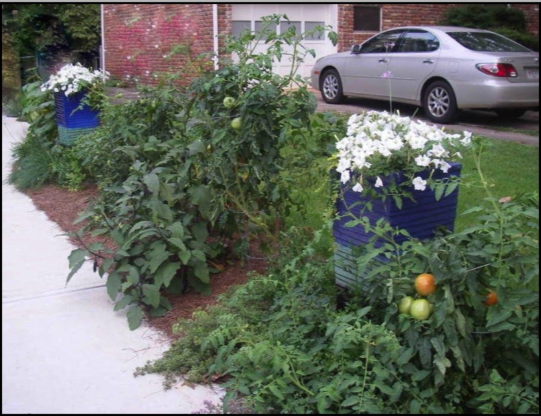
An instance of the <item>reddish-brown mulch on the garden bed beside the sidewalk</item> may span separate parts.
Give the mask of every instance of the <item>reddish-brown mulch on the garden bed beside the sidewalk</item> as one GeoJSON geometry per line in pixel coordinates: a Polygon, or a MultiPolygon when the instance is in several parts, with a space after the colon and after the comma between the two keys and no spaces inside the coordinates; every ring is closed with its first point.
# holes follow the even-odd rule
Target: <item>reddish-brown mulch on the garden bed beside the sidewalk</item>
{"type": "MultiPolygon", "coordinates": [[[[73,221],[97,197],[98,192],[97,187],[93,185],[87,185],[82,191],[78,192],[70,192],[65,188],[49,185],[38,190],[26,191],[26,194],[32,199],[38,210],[45,212],[47,217],[58,224],[58,227],[63,232],[69,233],[76,232],[82,227],[82,223],[73,225],[73,221]]],[[[71,238],[71,242],[78,247],[82,247],[82,243],[76,239],[71,238]]],[[[114,247],[111,241],[107,241],[103,237],[85,236],[83,238],[83,243],[86,245],[93,242],[104,243],[109,248],[114,247]]],[[[189,318],[196,309],[214,304],[220,293],[224,293],[235,284],[246,282],[246,278],[251,271],[263,273],[265,269],[266,261],[262,259],[251,259],[245,261],[244,264],[237,262],[228,265],[220,273],[211,276],[211,295],[192,292],[183,295],[172,295],[169,297],[172,310],[165,317],[148,317],[148,324],[173,340],[177,336],[172,332],[172,325],[179,319],[189,318]]],[[[76,279],[77,276],[73,278],[76,279]]]]}

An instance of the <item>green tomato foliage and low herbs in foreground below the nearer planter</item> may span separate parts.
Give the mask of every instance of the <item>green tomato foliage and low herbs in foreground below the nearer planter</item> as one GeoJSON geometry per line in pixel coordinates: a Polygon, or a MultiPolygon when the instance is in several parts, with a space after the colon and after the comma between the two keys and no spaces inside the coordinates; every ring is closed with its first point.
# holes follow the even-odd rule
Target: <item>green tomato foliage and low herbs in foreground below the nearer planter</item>
{"type": "Polygon", "coordinates": [[[225,403],[240,395],[255,413],[536,413],[538,195],[471,211],[475,225],[432,241],[397,244],[377,225],[389,238],[358,251],[362,284],[342,310],[328,229],[306,243],[292,228],[268,275],[179,322],[183,337],[141,371],[220,378],[225,403]],[[427,272],[432,315],[398,313],[427,272]]]}

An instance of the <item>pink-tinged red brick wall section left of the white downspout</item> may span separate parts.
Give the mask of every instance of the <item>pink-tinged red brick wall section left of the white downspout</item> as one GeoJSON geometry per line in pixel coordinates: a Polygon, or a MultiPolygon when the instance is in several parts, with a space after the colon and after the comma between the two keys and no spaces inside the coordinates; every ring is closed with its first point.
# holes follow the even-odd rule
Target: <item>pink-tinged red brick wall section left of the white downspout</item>
{"type": "MultiPolygon", "coordinates": [[[[128,85],[156,84],[157,73],[213,52],[212,5],[104,4],[104,32],[106,70],[128,85]]],[[[188,81],[186,74],[181,83],[188,81]]]]}

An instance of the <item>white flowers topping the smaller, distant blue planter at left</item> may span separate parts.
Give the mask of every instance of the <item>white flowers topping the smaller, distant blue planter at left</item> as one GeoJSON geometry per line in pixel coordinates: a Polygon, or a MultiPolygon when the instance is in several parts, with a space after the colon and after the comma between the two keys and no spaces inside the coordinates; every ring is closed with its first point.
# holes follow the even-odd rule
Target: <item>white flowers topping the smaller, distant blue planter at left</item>
{"type": "Polygon", "coordinates": [[[55,93],[64,91],[65,95],[78,93],[96,80],[105,81],[108,73],[102,73],[95,69],[90,71],[79,62],[62,66],[58,73],[51,75],[49,81],[41,86],[41,90],[53,90],[55,93]]]}

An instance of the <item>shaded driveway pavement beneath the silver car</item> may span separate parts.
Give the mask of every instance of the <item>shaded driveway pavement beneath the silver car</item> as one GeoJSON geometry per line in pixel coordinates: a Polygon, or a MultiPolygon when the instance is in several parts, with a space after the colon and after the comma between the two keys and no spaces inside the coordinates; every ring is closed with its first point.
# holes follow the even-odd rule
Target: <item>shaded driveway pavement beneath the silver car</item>
{"type": "MultiPolygon", "coordinates": [[[[346,98],[341,104],[327,104],[319,91],[314,91],[318,111],[336,111],[354,114],[364,110],[389,111],[389,103],[371,99],[346,98]]],[[[421,108],[393,103],[393,111],[399,110],[403,116],[428,121],[421,108]]],[[[444,125],[440,125],[444,126],[444,125]]],[[[463,110],[457,123],[445,125],[448,130],[468,130],[489,138],[511,140],[527,145],[539,145],[539,112],[528,111],[522,117],[512,121],[500,119],[495,112],[463,110]],[[537,134],[535,134],[537,132],[537,134]]]]}

